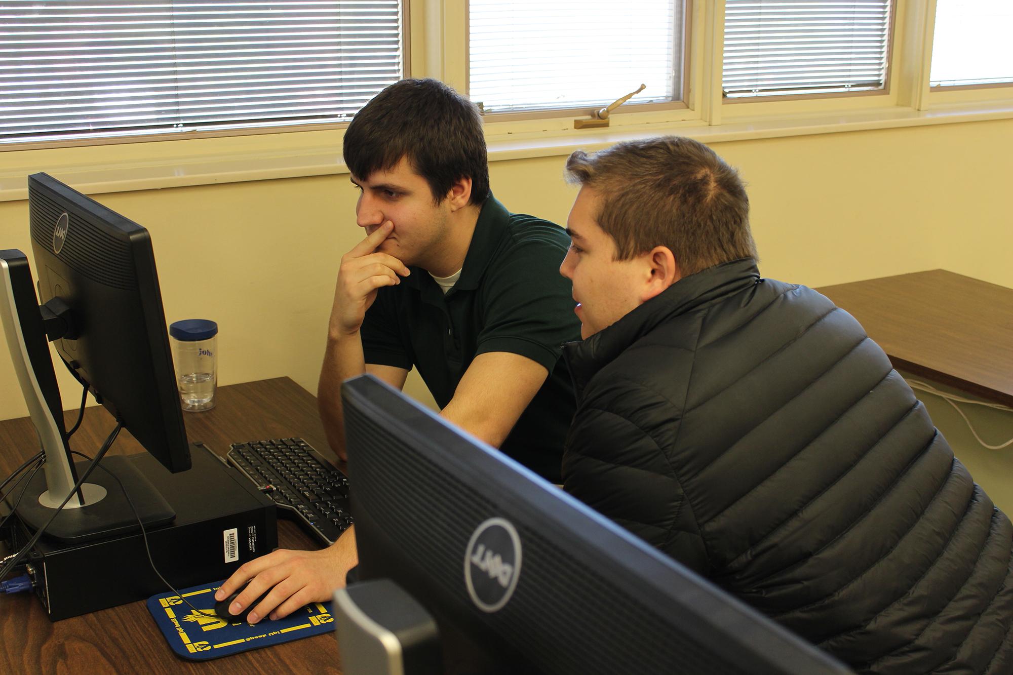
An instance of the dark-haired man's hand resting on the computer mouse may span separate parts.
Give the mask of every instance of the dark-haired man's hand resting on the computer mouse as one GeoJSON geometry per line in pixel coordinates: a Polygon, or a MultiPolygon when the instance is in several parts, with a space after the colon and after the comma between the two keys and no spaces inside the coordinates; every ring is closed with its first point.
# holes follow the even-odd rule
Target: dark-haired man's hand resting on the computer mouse
{"type": "Polygon", "coordinates": [[[253,608],[247,620],[256,623],[264,616],[284,618],[311,602],[330,600],[334,591],[344,586],[344,576],[359,564],[356,535],[345,530],[333,545],[322,550],[278,550],[246,562],[215,592],[223,600],[249,581],[230,611],[241,613],[246,606],[271,589],[253,608]],[[237,606],[238,605],[238,606],[237,606]]]}

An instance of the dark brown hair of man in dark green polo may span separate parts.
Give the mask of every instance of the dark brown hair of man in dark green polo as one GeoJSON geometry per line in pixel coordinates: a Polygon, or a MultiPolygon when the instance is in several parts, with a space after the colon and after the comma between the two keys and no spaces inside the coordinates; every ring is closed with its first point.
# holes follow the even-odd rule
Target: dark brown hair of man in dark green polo
{"type": "Polygon", "coordinates": [[[478,107],[433,79],[395,82],[359,110],[344,133],[344,163],[368,178],[401,158],[425,178],[439,204],[459,178],[471,178],[470,203],[489,195],[489,166],[478,107]]]}

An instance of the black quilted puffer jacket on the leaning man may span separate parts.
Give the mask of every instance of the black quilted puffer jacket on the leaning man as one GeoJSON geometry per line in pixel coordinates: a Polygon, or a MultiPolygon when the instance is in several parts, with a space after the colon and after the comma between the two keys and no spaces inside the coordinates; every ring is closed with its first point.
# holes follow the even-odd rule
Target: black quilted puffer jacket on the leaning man
{"type": "Polygon", "coordinates": [[[736,260],[564,354],[570,494],[856,670],[1013,673],[1013,527],[826,297],[736,260]]]}

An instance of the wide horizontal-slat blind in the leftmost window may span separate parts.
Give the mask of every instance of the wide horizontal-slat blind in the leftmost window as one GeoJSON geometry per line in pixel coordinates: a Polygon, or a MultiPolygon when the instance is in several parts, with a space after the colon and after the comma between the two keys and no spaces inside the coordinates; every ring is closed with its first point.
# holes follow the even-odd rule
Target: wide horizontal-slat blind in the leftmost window
{"type": "Polygon", "coordinates": [[[401,55],[397,0],[0,0],[0,143],[340,122],[401,55]]]}

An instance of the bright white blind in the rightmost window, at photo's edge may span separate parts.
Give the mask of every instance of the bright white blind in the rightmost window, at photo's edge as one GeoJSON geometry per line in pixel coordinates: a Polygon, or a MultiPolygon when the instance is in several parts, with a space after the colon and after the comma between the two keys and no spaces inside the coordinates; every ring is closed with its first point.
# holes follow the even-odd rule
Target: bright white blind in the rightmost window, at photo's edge
{"type": "Polygon", "coordinates": [[[1013,82],[1009,0],[936,0],[929,85],[1013,82]]]}

